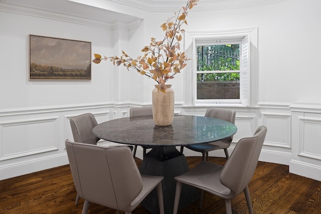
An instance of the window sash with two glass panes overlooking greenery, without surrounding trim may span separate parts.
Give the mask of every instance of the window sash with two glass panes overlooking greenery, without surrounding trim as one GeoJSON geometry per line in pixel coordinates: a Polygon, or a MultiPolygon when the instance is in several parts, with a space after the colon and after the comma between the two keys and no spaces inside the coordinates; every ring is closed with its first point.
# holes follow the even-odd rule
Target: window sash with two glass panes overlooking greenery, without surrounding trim
{"type": "Polygon", "coordinates": [[[196,41],[197,102],[240,103],[240,46],[241,41],[196,41]]]}

